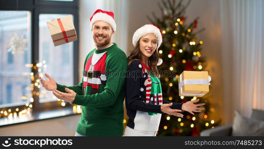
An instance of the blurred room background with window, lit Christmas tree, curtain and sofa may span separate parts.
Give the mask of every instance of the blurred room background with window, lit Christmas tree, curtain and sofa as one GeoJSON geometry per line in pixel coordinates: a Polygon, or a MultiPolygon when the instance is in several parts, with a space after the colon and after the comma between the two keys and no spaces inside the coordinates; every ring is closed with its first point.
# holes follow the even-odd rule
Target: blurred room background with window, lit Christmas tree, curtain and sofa
{"type": "Polygon", "coordinates": [[[163,35],[158,69],[177,74],[161,78],[164,100],[206,103],[204,111],[184,112],[184,118],[163,114],[157,136],[264,135],[264,1],[2,0],[1,136],[74,136],[81,106],[57,99],[38,76],[47,79],[48,73],[59,84],[78,85],[85,56],[94,49],[90,17],[97,9],[113,11],[112,41],[127,56],[134,32],[157,25],[163,35]],[[54,47],[46,22],[68,15],[78,40],[54,47]],[[184,70],[208,71],[209,92],[179,96],[184,70]]]}

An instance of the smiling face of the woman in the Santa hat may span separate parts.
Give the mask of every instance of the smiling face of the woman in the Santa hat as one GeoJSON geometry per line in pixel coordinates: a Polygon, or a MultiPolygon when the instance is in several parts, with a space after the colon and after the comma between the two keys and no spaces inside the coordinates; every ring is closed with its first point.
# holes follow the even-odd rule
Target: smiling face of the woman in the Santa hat
{"type": "Polygon", "coordinates": [[[151,55],[155,52],[157,45],[158,38],[153,33],[142,36],[139,39],[139,48],[142,53],[142,57],[151,57],[151,55]]]}

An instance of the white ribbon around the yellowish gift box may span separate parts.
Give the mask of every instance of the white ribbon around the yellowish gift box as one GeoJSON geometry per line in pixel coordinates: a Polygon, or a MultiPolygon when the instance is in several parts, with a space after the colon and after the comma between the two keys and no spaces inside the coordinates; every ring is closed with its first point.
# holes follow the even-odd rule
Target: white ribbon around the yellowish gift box
{"type": "MultiPolygon", "coordinates": [[[[180,80],[181,80],[181,75],[180,75],[180,80]]],[[[209,83],[210,81],[211,81],[211,76],[209,75],[208,75],[208,79],[184,79],[179,84],[179,89],[181,89],[182,95],[205,95],[205,94],[183,93],[182,87],[184,85],[210,85],[209,83]]]]}

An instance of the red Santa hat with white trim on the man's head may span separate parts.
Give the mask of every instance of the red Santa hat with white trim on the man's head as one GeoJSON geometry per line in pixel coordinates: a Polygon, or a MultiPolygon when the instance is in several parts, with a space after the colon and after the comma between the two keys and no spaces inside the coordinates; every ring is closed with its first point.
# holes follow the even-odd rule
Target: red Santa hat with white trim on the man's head
{"type": "Polygon", "coordinates": [[[114,13],[111,11],[103,11],[101,9],[97,9],[94,14],[90,18],[91,24],[90,27],[93,29],[94,22],[96,21],[105,21],[109,23],[113,29],[116,31],[116,22],[114,20],[114,13]]]}

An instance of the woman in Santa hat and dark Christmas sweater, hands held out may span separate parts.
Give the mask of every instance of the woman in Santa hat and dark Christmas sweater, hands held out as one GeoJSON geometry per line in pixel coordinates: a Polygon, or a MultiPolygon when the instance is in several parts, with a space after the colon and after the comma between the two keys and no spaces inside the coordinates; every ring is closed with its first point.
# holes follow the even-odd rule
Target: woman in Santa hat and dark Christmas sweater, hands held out
{"type": "Polygon", "coordinates": [[[162,100],[162,91],[157,73],[157,64],[161,64],[158,48],[162,43],[162,34],[153,24],[140,27],[132,39],[135,49],[128,59],[126,78],[126,108],[129,120],[124,136],[156,136],[161,114],[167,113],[183,117],[181,110],[200,112],[204,108],[193,104],[199,100],[171,103],[162,100]]]}

